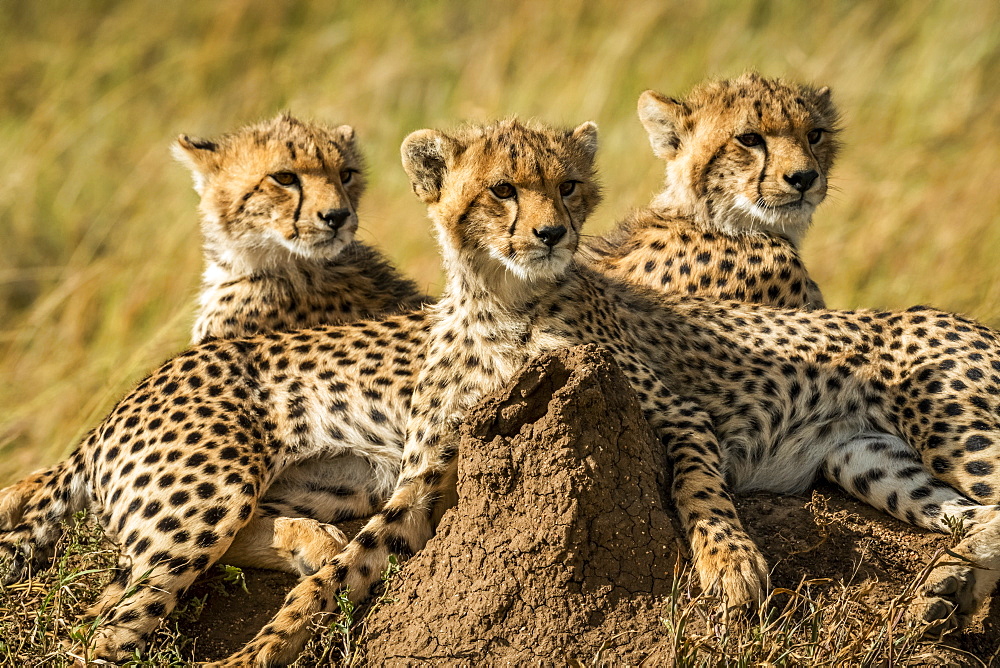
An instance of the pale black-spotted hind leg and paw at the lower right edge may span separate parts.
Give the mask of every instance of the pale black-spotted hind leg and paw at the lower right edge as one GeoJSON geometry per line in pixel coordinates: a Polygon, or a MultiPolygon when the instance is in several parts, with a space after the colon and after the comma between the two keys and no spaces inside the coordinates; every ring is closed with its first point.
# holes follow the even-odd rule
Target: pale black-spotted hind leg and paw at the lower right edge
{"type": "Polygon", "coordinates": [[[924,468],[919,454],[892,434],[865,432],[836,446],[823,463],[827,479],[908,524],[966,535],[931,573],[914,613],[938,635],[966,626],[1000,579],[1000,508],[980,505],[924,468]]]}

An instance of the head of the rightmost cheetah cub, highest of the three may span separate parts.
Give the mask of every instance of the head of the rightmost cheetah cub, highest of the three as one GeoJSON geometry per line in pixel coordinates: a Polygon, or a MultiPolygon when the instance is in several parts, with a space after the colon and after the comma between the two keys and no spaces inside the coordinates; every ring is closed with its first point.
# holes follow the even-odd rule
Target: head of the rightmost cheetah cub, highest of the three
{"type": "Polygon", "coordinates": [[[667,161],[654,208],[798,243],[826,197],[838,148],[829,88],[748,73],[702,84],[683,100],[646,91],[639,119],[667,161]]]}

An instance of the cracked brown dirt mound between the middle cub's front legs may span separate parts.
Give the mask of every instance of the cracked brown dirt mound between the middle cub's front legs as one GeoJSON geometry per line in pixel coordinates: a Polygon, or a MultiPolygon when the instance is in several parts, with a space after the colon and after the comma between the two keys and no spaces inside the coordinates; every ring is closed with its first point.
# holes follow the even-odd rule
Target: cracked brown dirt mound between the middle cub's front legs
{"type": "Polygon", "coordinates": [[[462,427],[459,506],[369,619],[371,663],[648,658],[678,549],[661,451],[608,353],[530,363],[462,427]]]}

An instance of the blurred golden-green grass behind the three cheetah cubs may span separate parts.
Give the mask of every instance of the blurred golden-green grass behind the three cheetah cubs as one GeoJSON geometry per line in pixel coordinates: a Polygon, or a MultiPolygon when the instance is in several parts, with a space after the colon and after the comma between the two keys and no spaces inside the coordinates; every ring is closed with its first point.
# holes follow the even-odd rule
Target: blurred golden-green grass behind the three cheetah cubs
{"type": "Polygon", "coordinates": [[[517,112],[602,130],[606,229],[661,179],[635,117],[747,68],[830,85],[846,149],[805,244],[834,307],[1000,326],[1000,3],[0,2],[0,483],[184,346],[196,196],[168,146],[282,109],[351,123],[362,235],[431,290],[411,130],[517,112]]]}

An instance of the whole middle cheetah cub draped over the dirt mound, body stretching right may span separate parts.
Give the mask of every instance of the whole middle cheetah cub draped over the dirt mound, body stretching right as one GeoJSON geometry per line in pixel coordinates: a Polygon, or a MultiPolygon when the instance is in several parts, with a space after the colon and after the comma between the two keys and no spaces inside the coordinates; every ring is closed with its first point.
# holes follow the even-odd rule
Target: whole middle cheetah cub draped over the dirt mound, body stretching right
{"type": "MultiPolygon", "coordinates": [[[[1000,576],[1000,335],[929,308],[795,311],[664,295],[573,257],[597,200],[595,128],[506,121],[407,138],[447,288],[417,378],[403,470],[382,510],[303,580],[223,665],[291,661],[338,590],[363,598],[390,554],[433,533],[454,494],[455,423],[528,357],[605,346],[673,467],[671,494],[706,590],[759,602],[768,584],[734,492],[801,492],[823,474],[910,524],[970,528],[966,558],[917,605],[961,624],[1000,576]]],[[[665,565],[666,567],[666,565],[665,565]]]]}

